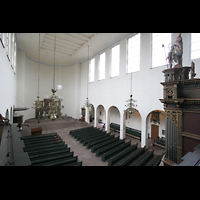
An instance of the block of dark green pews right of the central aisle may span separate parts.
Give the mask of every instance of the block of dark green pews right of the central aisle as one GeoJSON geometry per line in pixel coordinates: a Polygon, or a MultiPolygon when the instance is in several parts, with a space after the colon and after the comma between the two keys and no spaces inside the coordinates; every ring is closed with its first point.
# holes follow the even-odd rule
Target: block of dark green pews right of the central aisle
{"type": "MultiPolygon", "coordinates": [[[[144,148],[137,148],[138,143],[131,145],[131,141],[125,142],[119,137],[110,135],[105,131],[95,127],[86,127],[71,130],[69,134],[79,141],[87,149],[91,149],[97,157],[101,157],[102,161],[107,161],[108,166],[142,166],[153,157],[153,151],[144,148]]],[[[158,166],[162,156],[156,156],[151,166],[158,166]]]]}

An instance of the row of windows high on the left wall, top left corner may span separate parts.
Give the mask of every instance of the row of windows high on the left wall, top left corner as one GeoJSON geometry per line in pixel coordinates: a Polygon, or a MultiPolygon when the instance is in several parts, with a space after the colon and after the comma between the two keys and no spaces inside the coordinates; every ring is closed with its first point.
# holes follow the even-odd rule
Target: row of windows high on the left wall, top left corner
{"type": "Polygon", "coordinates": [[[11,67],[16,72],[17,43],[15,33],[0,33],[0,41],[3,48],[6,48],[6,55],[11,62],[11,67]]]}

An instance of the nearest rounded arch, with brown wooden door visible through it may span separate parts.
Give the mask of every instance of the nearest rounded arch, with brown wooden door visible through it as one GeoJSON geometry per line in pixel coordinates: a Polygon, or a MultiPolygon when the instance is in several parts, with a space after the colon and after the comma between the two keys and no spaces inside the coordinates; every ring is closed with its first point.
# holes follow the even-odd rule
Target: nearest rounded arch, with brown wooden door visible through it
{"type": "Polygon", "coordinates": [[[152,110],[146,117],[148,138],[158,139],[165,137],[165,112],[163,110],[152,110]]]}

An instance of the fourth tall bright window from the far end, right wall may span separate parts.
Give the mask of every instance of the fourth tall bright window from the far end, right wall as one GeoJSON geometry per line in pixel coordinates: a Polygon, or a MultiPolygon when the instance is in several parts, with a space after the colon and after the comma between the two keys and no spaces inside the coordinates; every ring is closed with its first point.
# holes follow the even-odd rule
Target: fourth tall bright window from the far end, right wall
{"type": "Polygon", "coordinates": [[[128,73],[140,70],[140,33],[128,39],[128,73]]]}

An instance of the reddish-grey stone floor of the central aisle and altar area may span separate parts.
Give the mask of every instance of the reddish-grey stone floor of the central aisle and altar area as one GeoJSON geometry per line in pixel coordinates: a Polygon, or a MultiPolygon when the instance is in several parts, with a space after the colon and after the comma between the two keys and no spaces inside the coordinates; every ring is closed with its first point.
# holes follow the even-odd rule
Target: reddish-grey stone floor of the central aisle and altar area
{"type": "MultiPolygon", "coordinates": [[[[80,122],[76,119],[67,117],[65,119],[57,119],[54,122],[51,120],[41,119],[40,123],[38,123],[37,119],[29,119],[26,120],[24,125],[22,126],[22,136],[31,135],[31,128],[42,127],[42,134],[57,132],[59,136],[65,141],[68,147],[71,148],[71,151],[74,151],[74,156],[78,156],[78,161],[82,161],[83,166],[107,166],[107,162],[101,161],[101,157],[96,157],[94,153],[91,152],[90,149],[87,149],[85,146],[76,141],[71,135],[69,135],[69,131],[73,129],[78,129],[81,127],[91,126],[92,124],[88,124],[86,122],[80,122]]],[[[99,128],[102,129],[102,125],[99,125],[99,128]]],[[[118,132],[111,131],[111,134],[115,134],[115,137],[119,136],[118,132]]],[[[131,145],[138,143],[138,148],[140,148],[141,143],[139,140],[136,140],[132,137],[126,136],[126,142],[131,140],[131,145]]],[[[165,150],[159,147],[153,147],[153,140],[148,140],[149,149],[154,149],[154,157],[156,155],[161,155],[165,150]]]]}

